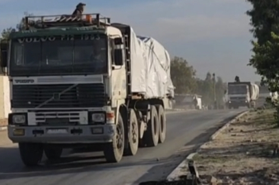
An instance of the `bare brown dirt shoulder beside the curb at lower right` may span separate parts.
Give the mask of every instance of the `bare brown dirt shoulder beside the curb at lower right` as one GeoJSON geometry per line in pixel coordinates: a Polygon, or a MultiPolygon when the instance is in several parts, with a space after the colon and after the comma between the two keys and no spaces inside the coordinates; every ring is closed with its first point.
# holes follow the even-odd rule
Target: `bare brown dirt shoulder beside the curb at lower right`
{"type": "MultiPolygon", "coordinates": [[[[193,160],[203,179],[211,175],[219,184],[276,184],[279,128],[274,110],[248,112],[205,143],[193,160]]],[[[278,183],[279,184],[279,183],[278,183]]]]}

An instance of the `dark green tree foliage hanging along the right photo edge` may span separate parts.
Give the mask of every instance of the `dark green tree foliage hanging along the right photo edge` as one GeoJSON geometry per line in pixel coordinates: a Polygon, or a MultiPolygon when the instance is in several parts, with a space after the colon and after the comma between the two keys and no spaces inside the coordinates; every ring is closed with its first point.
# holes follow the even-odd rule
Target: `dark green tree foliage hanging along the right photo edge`
{"type": "MultiPolygon", "coordinates": [[[[247,1],[253,7],[252,10],[247,11],[247,15],[251,17],[252,29],[250,31],[254,35],[254,40],[252,40],[253,55],[248,65],[253,66],[256,73],[261,75],[262,85],[268,86],[271,92],[278,92],[279,1],[247,1]]],[[[278,105],[278,102],[273,103],[279,114],[278,105]]]]}

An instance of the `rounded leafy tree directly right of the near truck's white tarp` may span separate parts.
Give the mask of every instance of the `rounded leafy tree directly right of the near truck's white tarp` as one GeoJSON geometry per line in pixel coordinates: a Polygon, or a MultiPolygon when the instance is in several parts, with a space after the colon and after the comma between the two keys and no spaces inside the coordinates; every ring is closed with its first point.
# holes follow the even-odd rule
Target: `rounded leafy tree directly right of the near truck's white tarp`
{"type": "Polygon", "coordinates": [[[171,60],[170,76],[175,86],[175,93],[194,93],[197,87],[195,75],[196,71],[185,59],[175,57],[171,60]]]}

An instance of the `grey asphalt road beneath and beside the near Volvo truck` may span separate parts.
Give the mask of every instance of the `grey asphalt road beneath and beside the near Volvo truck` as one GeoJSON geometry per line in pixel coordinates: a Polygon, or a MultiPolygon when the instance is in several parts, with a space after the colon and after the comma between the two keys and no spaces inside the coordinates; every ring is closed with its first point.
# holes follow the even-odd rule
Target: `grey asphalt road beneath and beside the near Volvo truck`
{"type": "Polygon", "coordinates": [[[157,147],[143,148],[136,156],[107,164],[102,152],[66,153],[62,160],[43,160],[40,167],[27,169],[21,163],[17,145],[0,132],[1,185],[122,185],[162,180],[194,148],[239,110],[168,112],[167,138],[157,147]]]}

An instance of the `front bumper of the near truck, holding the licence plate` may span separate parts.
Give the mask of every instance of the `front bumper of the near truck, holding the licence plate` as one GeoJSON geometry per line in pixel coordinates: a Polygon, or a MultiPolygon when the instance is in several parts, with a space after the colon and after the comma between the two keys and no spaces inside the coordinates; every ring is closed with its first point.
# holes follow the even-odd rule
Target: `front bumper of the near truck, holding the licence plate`
{"type": "Polygon", "coordinates": [[[76,126],[8,126],[8,137],[14,143],[111,143],[115,124],[76,126]],[[49,134],[48,130],[55,130],[49,134]],[[57,130],[67,130],[59,133],[57,130]],[[102,132],[100,132],[102,130],[102,132]],[[98,131],[98,132],[96,132],[98,131]]]}

